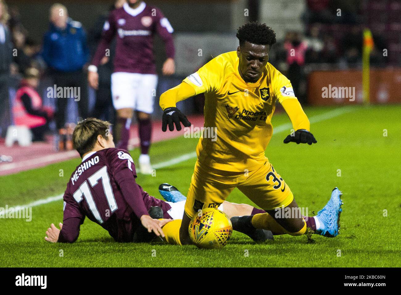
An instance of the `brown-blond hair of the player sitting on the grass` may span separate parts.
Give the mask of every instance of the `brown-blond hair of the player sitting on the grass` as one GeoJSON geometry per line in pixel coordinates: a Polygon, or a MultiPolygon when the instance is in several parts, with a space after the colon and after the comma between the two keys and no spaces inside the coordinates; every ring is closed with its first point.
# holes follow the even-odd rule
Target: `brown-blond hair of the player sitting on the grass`
{"type": "Polygon", "coordinates": [[[73,146],[82,157],[95,146],[97,136],[101,135],[106,140],[109,138],[111,124],[97,118],[87,118],[75,126],[73,132],[73,146]]]}

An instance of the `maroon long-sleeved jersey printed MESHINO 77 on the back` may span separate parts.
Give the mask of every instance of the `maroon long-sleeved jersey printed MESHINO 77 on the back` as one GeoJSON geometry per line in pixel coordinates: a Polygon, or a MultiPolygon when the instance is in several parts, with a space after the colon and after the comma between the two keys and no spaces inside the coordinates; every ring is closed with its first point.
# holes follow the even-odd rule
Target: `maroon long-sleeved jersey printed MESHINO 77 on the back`
{"type": "Polygon", "coordinates": [[[74,242],[85,216],[107,230],[116,241],[131,242],[140,217],[152,206],[171,206],[150,196],[135,182],[130,154],[122,149],[103,149],[83,158],[71,175],[64,194],[63,228],[59,242],[74,242]]]}

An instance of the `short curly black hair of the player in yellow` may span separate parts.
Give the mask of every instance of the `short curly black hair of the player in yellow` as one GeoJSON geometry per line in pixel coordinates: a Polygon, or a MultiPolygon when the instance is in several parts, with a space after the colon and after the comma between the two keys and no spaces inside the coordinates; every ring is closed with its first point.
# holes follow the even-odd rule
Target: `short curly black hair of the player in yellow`
{"type": "Polygon", "coordinates": [[[237,38],[239,44],[249,43],[258,45],[273,45],[276,42],[273,29],[266,24],[260,22],[247,22],[238,28],[237,38]]]}

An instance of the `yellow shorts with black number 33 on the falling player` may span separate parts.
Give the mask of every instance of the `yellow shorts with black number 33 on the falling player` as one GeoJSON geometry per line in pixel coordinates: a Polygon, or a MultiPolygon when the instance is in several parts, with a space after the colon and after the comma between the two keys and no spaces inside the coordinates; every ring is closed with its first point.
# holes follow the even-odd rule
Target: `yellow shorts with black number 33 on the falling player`
{"type": "Polygon", "coordinates": [[[218,208],[235,187],[266,211],[286,207],[294,199],[290,187],[267,159],[262,167],[247,173],[211,169],[196,161],[186,195],[186,215],[192,218],[203,208],[218,208]]]}

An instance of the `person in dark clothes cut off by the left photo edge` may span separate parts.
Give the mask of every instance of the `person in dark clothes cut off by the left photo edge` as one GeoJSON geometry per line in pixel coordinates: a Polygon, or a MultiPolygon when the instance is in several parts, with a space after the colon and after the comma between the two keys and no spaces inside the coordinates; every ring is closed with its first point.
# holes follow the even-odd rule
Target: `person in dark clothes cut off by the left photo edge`
{"type": "Polygon", "coordinates": [[[0,0],[0,135],[5,136],[6,128],[11,124],[8,79],[12,62],[11,34],[7,27],[7,5],[0,0]]]}

